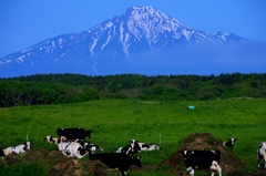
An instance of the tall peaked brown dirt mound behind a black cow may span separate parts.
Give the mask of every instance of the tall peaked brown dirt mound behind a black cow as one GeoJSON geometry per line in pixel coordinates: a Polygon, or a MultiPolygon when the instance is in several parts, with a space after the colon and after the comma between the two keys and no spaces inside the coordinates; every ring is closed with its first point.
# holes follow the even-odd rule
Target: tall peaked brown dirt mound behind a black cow
{"type": "MultiPolygon", "coordinates": [[[[214,138],[211,133],[202,134],[191,134],[183,142],[178,151],[172,154],[167,159],[162,162],[160,166],[173,166],[173,172],[177,175],[188,175],[188,172],[185,170],[185,165],[180,155],[180,152],[184,149],[187,151],[209,151],[218,149],[221,152],[221,167],[223,173],[233,173],[242,168],[247,168],[246,164],[237,158],[234,152],[227,147],[223,147],[223,142],[221,139],[214,138]]],[[[208,169],[206,169],[208,172],[208,169]]]]}

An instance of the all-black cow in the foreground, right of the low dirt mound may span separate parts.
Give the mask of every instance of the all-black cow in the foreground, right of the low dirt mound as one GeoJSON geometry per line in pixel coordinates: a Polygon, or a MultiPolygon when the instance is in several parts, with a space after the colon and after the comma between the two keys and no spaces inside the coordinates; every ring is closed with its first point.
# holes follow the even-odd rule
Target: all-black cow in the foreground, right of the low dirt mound
{"type": "Polygon", "coordinates": [[[131,165],[142,167],[141,156],[129,156],[124,153],[90,154],[89,157],[91,161],[101,161],[111,169],[119,168],[119,172],[122,176],[126,175],[126,170],[130,168],[131,165]]]}

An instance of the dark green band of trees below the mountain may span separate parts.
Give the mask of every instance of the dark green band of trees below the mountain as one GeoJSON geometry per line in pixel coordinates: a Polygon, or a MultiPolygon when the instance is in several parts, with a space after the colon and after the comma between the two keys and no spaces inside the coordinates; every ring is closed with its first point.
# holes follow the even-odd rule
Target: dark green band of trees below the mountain
{"type": "Polygon", "coordinates": [[[219,75],[34,74],[0,79],[0,106],[59,104],[99,99],[217,100],[266,97],[266,73],[219,75]]]}

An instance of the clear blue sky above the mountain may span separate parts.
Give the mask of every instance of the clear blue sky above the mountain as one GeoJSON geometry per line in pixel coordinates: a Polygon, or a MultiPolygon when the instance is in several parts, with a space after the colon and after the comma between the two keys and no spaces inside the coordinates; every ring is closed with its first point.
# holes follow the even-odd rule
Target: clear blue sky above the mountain
{"type": "Polygon", "coordinates": [[[266,42],[266,0],[1,0],[0,58],[65,33],[79,33],[133,6],[152,6],[205,32],[266,42]]]}

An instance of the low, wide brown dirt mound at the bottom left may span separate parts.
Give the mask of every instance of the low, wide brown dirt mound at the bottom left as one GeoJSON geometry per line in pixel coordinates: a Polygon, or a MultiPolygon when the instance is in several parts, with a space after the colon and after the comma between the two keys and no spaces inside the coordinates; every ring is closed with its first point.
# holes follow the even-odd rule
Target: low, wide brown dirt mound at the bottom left
{"type": "Polygon", "coordinates": [[[83,175],[115,175],[99,161],[85,161],[79,158],[66,158],[59,151],[29,149],[18,155],[12,153],[2,159],[6,166],[16,165],[21,162],[39,162],[49,169],[49,175],[83,176],[83,175]]]}

